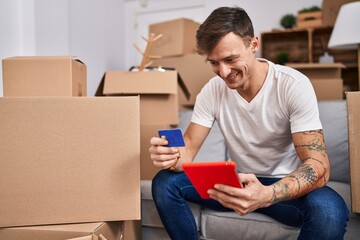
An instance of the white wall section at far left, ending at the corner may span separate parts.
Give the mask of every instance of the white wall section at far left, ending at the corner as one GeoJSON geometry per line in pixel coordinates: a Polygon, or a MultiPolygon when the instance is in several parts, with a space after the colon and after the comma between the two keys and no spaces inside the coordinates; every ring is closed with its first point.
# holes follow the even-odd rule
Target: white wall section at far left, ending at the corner
{"type": "MultiPolygon", "coordinates": [[[[124,0],[0,0],[0,59],[71,55],[87,65],[88,95],[124,69],[124,0]]],[[[2,71],[0,70],[0,96],[2,71]]]]}

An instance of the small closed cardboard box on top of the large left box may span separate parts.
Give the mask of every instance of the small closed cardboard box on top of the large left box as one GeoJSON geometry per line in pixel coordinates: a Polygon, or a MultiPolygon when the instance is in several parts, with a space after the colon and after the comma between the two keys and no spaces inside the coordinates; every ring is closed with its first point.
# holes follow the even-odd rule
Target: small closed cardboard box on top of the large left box
{"type": "Polygon", "coordinates": [[[86,96],[86,65],[72,57],[11,57],[2,67],[4,97],[86,96]]]}

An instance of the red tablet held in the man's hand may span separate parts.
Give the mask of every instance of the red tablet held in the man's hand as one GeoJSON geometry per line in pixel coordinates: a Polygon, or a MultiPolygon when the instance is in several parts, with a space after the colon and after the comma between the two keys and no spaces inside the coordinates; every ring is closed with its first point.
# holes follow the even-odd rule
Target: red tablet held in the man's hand
{"type": "Polygon", "coordinates": [[[243,188],[236,172],[235,162],[222,161],[184,163],[182,167],[185,174],[188,176],[202,198],[210,198],[207,194],[207,190],[214,188],[215,184],[225,184],[243,188]]]}

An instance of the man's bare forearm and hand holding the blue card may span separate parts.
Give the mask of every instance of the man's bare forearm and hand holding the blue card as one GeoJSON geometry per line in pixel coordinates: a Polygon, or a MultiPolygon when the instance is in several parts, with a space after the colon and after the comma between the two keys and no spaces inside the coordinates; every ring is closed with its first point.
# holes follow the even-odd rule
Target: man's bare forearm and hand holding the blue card
{"type": "Polygon", "coordinates": [[[184,134],[185,147],[181,148],[165,147],[166,139],[151,138],[149,152],[154,166],[161,169],[171,168],[173,171],[182,171],[182,164],[193,161],[209,132],[210,128],[190,123],[184,134]],[[179,159],[177,160],[177,158],[179,159]]]}

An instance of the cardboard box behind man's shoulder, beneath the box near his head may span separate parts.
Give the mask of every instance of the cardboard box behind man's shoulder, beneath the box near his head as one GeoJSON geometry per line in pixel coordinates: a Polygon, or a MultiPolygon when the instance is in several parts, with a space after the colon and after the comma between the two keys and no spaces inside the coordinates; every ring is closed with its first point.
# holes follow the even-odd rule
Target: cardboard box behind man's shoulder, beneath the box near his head
{"type": "Polygon", "coordinates": [[[211,66],[206,64],[204,57],[198,54],[186,54],[180,57],[169,57],[154,60],[153,66],[175,68],[190,92],[187,99],[183,92],[179,94],[180,105],[192,107],[202,87],[215,76],[211,66]]]}

